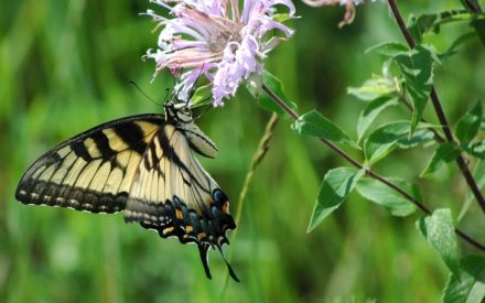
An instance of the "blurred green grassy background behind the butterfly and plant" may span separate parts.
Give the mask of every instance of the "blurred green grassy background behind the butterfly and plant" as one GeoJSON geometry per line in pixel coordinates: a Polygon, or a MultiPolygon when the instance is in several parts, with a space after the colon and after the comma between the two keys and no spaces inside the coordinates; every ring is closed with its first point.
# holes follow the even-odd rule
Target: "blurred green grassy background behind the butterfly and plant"
{"type": "MultiPolygon", "coordinates": [[[[402,13],[461,8],[460,1],[400,1],[402,13]]],[[[300,111],[317,108],[355,136],[363,104],[346,95],[380,73],[380,57],[364,51],[402,41],[381,2],[357,8],[355,22],[337,29],[344,9],[297,3],[295,35],[269,56],[266,68],[280,77],[300,111]]],[[[161,239],[122,214],[91,215],[33,207],[14,199],[18,181],[43,152],[90,127],[141,112],[161,112],[128,84],[163,100],[173,79],[141,56],[157,33],[148,1],[1,1],[0,10],[0,301],[4,302],[217,302],[226,269],[211,252],[213,280],[205,278],[195,246],[161,239]]],[[[430,36],[439,51],[466,24],[430,36]]],[[[475,39],[436,68],[435,83],[451,121],[485,96],[485,57],[475,39]]],[[[218,144],[204,166],[237,208],[252,153],[270,113],[240,89],[198,123],[218,144]]],[[[409,118],[405,108],[381,121],[409,118]]],[[[427,112],[435,121],[432,111],[427,112]]],[[[419,180],[432,149],[396,152],[375,169],[421,185],[427,204],[452,207],[466,196],[453,166],[419,180]]],[[[358,153],[355,155],[362,160],[358,153]]],[[[443,262],[401,219],[352,195],[316,230],[306,226],[320,180],[345,164],[315,140],[292,133],[282,120],[256,172],[231,251],[240,283],[230,281],[225,302],[436,302],[448,279],[443,262]]],[[[459,224],[485,241],[482,213],[473,205],[459,224]],[[476,212],[475,212],[476,210],[476,212]]],[[[462,245],[464,253],[470,247],[462,245]]]]}

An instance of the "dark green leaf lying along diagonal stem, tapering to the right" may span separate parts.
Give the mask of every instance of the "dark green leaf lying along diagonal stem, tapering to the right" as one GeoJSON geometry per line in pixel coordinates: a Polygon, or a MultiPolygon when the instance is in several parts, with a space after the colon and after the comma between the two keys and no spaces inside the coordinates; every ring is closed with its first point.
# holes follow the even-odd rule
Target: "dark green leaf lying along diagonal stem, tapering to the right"
{"type": "Polygon", "coordinates": [[[291,128],[299,134],[319,137],[354,149],[360,149],[348,134],[314,109],[301,116],[291,125],[291,128]]]}

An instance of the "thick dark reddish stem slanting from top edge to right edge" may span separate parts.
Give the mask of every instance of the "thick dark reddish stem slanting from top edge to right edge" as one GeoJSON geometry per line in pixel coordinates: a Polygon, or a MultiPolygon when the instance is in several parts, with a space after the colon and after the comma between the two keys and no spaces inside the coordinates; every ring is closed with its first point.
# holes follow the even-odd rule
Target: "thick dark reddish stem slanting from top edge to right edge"
{"type": "MultiPolygon", "coordinates": [[[[408,45],[410,48],[416,47],[416,42],[412,39],[411,33],[409,32],[408,28],[405,24],[405,21],[402,20],[402,17],[399,12],[399,9],[396,4],[396,0],[388,0],[389,7],[392,11],[392,14],[396,19],[396,22],[399,25],[399,29],[401,30],[402,34],[405,35],[406,41],[408,42],[408,45]]],[[[444,137],[449,142],[454,142],[453,133],[451,132],[450,125],[446,120],[446,116],[444,115],[443,107],[441,106],[440,98],[438,97],[436,90],[434,89],[434,86],[431,86],[431,93],[430,98],[434,107],[434,111],[436,112],[438,119],[440,120],[440,123],[443,128],[444,137]]],[[[476,202],[482,207],[482,210],[485,213],[485,197],[479,192],[479,187],[476,184],[475,180],[473,178],[472,173],[470,172],[468,165],[466,165],[466,161],[463,158],[463,155],[460,155],[456,159],[456,163],[459,165],[460,171],[462,172],[463,176],[465,177],[466,183],[468,184],[470,190],[472,191],[473,195],[475,196],[476,202]]]]}

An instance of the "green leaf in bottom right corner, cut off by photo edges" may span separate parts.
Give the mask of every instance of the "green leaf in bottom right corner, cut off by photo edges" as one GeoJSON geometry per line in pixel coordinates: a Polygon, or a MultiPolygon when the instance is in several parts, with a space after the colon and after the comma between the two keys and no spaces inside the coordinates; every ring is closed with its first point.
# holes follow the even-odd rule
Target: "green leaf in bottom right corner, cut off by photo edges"
{"type": "Polygon", "coordinates": [[[443,291],[443,303],[479,303],[485,297],[485,257],[461,260],[460,275],[451,274],[443,291]]]}

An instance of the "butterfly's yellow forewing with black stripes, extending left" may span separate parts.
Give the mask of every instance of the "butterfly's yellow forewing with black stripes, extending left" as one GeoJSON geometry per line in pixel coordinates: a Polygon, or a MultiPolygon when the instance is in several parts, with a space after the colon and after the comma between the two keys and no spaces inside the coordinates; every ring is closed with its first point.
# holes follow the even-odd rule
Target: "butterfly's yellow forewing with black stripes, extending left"
{"type": "Polygon", "coordinates": [[[35,161],[19,183],[17,199],[91,213],[122,210],[163,121],[159,115],[133,116],[74,137],[35,161]]]}

